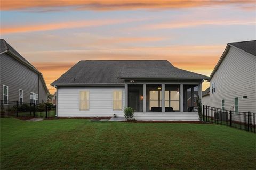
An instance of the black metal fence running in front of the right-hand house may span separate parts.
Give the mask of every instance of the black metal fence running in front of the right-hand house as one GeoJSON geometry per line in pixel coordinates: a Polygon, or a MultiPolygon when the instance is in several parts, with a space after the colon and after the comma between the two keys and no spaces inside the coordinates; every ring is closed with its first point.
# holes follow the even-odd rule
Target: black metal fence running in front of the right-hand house
{"type": "Polygon", "coordinates": [[[256,133],[256,113],[203,106],[203,120],[256,133]]]}

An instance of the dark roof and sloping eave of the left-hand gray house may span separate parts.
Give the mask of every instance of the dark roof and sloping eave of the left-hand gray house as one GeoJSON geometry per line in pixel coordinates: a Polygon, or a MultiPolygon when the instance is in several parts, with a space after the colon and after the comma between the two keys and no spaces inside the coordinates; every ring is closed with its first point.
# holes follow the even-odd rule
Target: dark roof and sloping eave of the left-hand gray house
{"type": "Polygon", "coordinates": [[[0,54],[8,53],[12,57],[14,57],[16,60],[27,66],[29,69],[36,72],[38,75],[40,75],[40,79],[43,82],[43,86],[47,93],[49,93],[49,90],[46,86],[46,83],[43,78],[43,74],[39,72],[32,64],[30,64],[24,57],[22,57],[11,45],[9,45],[4,39],[0,39],[0,54]]]}

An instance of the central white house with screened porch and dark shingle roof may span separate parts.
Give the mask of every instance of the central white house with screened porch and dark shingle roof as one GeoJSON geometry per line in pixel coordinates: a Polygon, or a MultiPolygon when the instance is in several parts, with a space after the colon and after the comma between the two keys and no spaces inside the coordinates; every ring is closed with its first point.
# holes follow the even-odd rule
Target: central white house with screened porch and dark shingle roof
{"type": "Polygon", "coordinates": [[[123,117],[132,107],[137,120],[197,121],[195,98],[208,78],[167,60],[87,60],[51,85],[59,117],[123,117]]]}

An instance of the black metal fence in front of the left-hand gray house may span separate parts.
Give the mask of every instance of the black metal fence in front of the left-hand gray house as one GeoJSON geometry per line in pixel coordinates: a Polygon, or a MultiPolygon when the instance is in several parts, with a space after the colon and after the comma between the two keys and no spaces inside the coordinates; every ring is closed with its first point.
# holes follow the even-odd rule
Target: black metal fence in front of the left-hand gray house
{"type": "Polygon", "coordinates": [[[19,101],[0,100],[0,117],[55,117],[56,107],[46,103],[19,103],[19,101]]]}

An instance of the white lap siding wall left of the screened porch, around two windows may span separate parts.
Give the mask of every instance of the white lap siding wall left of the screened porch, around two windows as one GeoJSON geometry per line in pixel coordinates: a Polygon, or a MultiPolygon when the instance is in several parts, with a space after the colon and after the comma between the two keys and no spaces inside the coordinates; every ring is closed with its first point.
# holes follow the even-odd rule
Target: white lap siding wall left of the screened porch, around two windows
{"type": "Polygon", "coordinates": [[[113,91],[122,91],[122,108],[124,107],[124,88],[59,88],[59,117],[108,117],[116,114],[124,117],[123,111],[113,111],[113,91]],[[80,111],[79,93],[89,91],[89,110],[80,111]]]}

